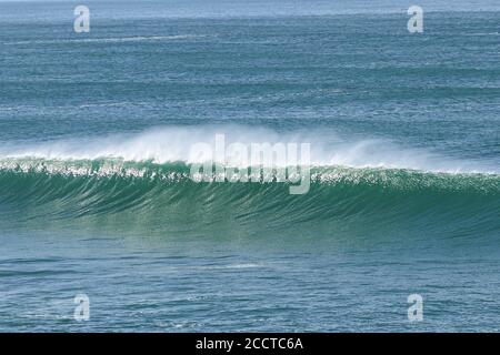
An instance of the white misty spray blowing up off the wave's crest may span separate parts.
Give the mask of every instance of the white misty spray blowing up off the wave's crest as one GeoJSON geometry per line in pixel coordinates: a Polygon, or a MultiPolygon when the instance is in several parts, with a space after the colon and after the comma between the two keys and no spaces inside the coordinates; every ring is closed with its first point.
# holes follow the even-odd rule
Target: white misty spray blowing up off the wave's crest
{"type": "Polygon", "coordinates": [[[351,168],[413,169],[447,173],[493,173],[499,171],[481,162],[459,161],[419,149],[402,148],[387,140],[349,140],[328,131],[278,133],[266,128],[203,125],[156,128],[137,134],[114,134],[93,139],[71,139],[0,149],[1,159],[36,158],[47,160],[120,159],[167,163],[199,162],[191,156],[197,143],[214,146],[216,134],[224,134],[226,145],[233,142],[310,143],[312,165],[351,168]]]}

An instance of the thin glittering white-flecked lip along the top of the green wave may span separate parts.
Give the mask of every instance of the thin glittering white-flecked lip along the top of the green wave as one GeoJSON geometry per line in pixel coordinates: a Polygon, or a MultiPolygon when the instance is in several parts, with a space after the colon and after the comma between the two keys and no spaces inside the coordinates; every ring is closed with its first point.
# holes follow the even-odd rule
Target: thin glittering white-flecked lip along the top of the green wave
{"type": "MultiPolygon", "coordinates": [[[[112,179],[114,181],[143,180],[146,183],[200,183],[191,175],[191,164],[186,162],[169,162],[158,164],[151,161],[133,162],[120,159],[101,160],[44,160],[44,159],[3,159],[0,160],[0,175],[9,179],[30,176],[34,180],[64,179],[71,181],[83,179],[112,179]]],[[[249,172],[251,166],[246,168],[249,172]]],[[[216,178],[216,165],[212,166],[216,178]]],[[[277,174],[277,171],[271,171],[277,174]]],[[[210,182],[238,183],[229,176],[223,181],[212,179],[210,182]]],[[[442,173],[422,172],[407,169],[383,168],[348,168],[341,165],[310,166],[312,183],[320,185],[361,185],[377,186],[387,191],[469,191],[479,193],[500,192],[500,175],[483,173],[442,173]]],[[[280,182],[279,180],[258,181],[260,183],[280,182]]]]}

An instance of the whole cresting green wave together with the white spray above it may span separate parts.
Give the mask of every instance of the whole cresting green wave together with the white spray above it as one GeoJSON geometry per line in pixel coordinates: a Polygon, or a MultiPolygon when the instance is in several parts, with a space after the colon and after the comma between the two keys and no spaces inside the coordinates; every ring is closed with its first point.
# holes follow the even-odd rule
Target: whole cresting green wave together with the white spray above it
{"type": "MultiPolygon", "coordinates": [[[[4,145],[0,156],[4,225],[87,223],[139,234],[220,233],[224,227],[231,233],[281,230],[298,235],[406,230],[478,236],[500,231],[500,174],[492,165],[389,141],[352,141],[329,131],[168,126],[4,145]],[[291,183],[276,175],[272,182],[217,182],[216,175],[211,182],[193,181],[192,164],[203,161],[191,155],[190,146],[203,142],[213,148],[220,133],[227,144],[246,146],[312,142],[310,190],[291,195],[291,183]]],[[[217,159],[213,163],[227,164],[217,159]]],[[[239,169],[250,172],[247,166],[239,169]]]]}

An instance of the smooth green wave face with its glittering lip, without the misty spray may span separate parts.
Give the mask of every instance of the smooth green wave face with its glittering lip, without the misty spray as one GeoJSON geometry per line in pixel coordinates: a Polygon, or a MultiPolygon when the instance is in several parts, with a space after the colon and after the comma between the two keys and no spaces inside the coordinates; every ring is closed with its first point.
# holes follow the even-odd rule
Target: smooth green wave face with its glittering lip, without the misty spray
{"type": "Polygon", "coordinates": [[[186,162],[10,159],[0,163],[0,221],[99,222],[113,230],[404,226],[426,233],[500,231],[500,176],[316,166],[311,189],[280,182],[194,182],[186,162]]]}

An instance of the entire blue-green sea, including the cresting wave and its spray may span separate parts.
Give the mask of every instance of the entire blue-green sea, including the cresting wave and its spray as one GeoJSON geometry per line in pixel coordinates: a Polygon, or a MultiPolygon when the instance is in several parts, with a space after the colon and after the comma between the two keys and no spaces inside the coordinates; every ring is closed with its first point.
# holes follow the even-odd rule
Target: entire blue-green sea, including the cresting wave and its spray
{"type": "Polygon", "coordinates": [[[498,332],[500,7],[450,3],[0,2],[0,331],[498,332]],[[192,181],[217,133],[310,191],[192,181]]]}

